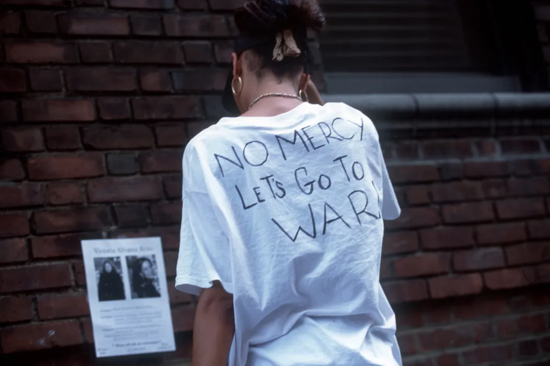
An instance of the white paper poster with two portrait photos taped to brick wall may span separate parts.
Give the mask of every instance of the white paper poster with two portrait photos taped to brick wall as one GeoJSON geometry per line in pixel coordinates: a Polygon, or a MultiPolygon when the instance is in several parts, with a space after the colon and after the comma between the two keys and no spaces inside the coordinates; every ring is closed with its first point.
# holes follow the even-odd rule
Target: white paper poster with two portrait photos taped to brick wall
{"type": "Polygon", "coordinates": [[[96,356],[175,351],[161,239],[81,243],[96,356]]]}

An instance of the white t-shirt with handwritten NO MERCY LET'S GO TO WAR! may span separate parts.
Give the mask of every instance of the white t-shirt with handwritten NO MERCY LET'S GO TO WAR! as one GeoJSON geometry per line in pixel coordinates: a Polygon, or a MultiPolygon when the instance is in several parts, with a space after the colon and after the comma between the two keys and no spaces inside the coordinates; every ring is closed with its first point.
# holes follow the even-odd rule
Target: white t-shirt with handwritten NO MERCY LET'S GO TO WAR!
{"type": "Polygon", "coordinates": [[[399,214],[361,112],[222,118],[185,149],[175,284],[233,294],[230,366],[400,365],[379,284],[382,219],[399,214]]]}

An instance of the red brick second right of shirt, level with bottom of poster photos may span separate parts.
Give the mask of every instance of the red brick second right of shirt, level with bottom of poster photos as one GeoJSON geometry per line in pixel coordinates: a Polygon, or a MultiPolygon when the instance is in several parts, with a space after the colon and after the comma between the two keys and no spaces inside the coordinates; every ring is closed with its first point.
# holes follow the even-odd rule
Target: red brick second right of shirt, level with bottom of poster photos
{"type": "Polygon", "coordinates": [[[428,280],[432,298],[472,295],[483,289],[483,280],[478,273],[442,276],[428,280]]]}

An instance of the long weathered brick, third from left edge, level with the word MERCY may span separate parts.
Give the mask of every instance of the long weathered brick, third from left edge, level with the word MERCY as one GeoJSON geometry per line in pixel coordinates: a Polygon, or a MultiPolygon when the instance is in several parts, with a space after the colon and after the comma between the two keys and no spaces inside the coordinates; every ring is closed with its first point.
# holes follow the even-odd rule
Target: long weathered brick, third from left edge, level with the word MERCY
{"type": "Polygon", "coordinates": [[[149,148],[154,140],[145,125],[105,125],[84,129],[83,142],[87,148],[109,150],[149,148]]]}

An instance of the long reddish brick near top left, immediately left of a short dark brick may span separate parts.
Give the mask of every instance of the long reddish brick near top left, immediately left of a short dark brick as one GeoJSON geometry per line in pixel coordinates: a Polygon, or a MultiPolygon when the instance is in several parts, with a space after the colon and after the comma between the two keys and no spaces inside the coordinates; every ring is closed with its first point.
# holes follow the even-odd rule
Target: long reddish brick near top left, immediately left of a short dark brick
{"type": "Polygon", "coordinates": [[[125,36],[130,34],[126,16],[61,14],[58,16],[62,34],[84,36],[125,36]]]}

